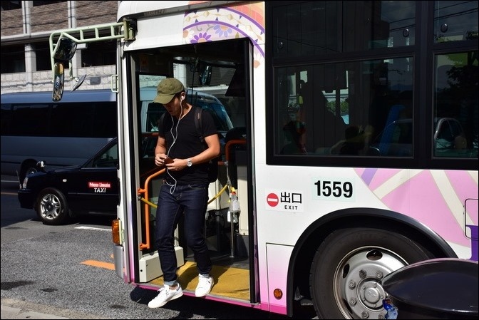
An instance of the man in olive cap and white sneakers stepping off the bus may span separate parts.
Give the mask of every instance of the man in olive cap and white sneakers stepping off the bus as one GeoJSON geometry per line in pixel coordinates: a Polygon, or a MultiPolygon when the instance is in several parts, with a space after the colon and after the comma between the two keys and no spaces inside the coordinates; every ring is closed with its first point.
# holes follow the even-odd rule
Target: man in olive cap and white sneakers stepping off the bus
{"type": "Polygon", "coordinates": [[[212,262],[205,241],[205,212],[208,200],[208,162],[220,155],[220,139],[210,113],[202,113],[200,140],[195,126],[195,112],[185,100],[185,87],[176,78],[160,81],[156,103],[163,104],[165,120],[159,124],[155,165],[166,167],[156,210],[155,244],[163,271],[164,286],[148,303],[150,308],[164,306],[183,295],[177,281],[174,232],[184,215],[187,246],[192,249],[199,273],[196,296],[210,293],[214,280],[212,262]],[[168,116],[170,115],[170,116],[168,116]]]}

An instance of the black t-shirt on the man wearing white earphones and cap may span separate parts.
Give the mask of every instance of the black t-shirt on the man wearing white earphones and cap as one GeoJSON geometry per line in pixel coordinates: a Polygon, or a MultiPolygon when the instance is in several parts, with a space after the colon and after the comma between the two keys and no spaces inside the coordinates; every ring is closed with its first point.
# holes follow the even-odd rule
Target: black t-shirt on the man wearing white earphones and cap
{"type": "MultiPolygon", "coordinates": [[[[179,121],[166,113],[163,123],[158,125],[158,134],[166,140],[166,154],[175,159],[193,158],[202,153],[206,148],[206,143],[202,143],[200,135],[195,126],[195,108],[192,107],[179,121]]],[[[208,112],[203,112],[202,116],[203,137],[217,134],[215,121],[208,112]]],[[[195,164],[191,167],[185,167],[180,171],[168,171],[167,180],[172,180],[170,175],[175,178],[178,185],[202,184],[208,185],[208,162],[195,164]],[[168,175],[169,173],[169,175],[168,175]]]]}

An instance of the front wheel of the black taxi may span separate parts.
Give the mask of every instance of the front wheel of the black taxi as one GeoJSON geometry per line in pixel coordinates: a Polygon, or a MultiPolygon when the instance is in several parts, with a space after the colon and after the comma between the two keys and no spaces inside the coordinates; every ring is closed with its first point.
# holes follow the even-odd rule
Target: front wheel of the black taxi
{"type": "Polygon", "coordinates": [[[51,187],[38,193],[35,210],[41,222],[50,225],[67,222],[70,213],[65,195],[60,190],[51,187]]]}

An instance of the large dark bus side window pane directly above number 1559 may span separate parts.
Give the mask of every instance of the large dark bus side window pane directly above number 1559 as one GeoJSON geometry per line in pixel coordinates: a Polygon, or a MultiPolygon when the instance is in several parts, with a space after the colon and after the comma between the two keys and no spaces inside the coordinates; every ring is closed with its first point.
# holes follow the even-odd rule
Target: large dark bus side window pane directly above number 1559
{"type": "Polygon", "coordinates": [[[293,144],[301,146],[303,155],[411,156],[412,140],[405,153],[378,153],[376,144],[388,125],[413,117],[412,62],[395,58],[278,68],[277,100],[283,102],[277,105],[278,153],[287,154],[285,146],[293,144]],[[362,91],[354,90],[358,86],[362,91]],[[351,128],[357,128],[355,135],[351,128]],[[295,135],[299,143],[291,143],[295,135]],[[356,152],[341,153],[345,143],[356,144],[356,152]]]}

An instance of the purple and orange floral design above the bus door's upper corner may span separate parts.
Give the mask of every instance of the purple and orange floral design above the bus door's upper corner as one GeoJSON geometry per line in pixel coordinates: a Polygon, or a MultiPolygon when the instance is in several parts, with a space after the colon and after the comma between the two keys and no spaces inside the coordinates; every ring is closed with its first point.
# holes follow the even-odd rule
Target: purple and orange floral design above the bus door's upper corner
{"type": "MultiPolygon", "coordinates": [[[[194,1],[192,1],[194,2],[194,1]]],[[[185,43],[250,38],[254,45],[254,68],[264,63],[264,4],[245,4],[190,11],[183,19],[185,43]]]]}

